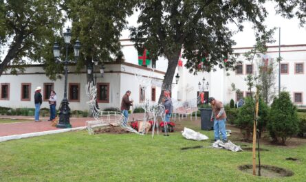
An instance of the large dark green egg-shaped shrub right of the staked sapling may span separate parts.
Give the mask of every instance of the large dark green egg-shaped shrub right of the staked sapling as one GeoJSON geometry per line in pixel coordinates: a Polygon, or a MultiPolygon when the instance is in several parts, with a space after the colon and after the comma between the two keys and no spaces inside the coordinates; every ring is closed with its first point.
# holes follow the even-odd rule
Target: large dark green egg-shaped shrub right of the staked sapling
{"type": "Polygon", "coordinates": [[[278,141],[278,137],[280,137],[282,144],[285,145],[288,137],[292,137],[298,132],[296,106],[292,104],[289,93],[281,92],[278,98],[274,98],[269,117],[270,122],[267,124],[267,130],[269,130],[273,141],[278,141]]]}

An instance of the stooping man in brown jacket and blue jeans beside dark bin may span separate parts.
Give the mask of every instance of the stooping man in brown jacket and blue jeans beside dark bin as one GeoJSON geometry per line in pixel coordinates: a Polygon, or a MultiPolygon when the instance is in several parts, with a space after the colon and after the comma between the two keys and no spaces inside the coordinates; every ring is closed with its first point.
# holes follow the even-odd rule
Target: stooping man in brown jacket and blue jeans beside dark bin
{"type": "Polygon", "coordinates": [[[222,102],[219,100],[215,100],[215,98],[208,98],[208,102],[212,107],[212,115],[210,117],[210,121],[214,122],[214,133],[215,133],[215,141],[220,139],[220,132],[222,136],[222,141],[228,141],[226,137],[226,111],[224,110],[222,102]]]}

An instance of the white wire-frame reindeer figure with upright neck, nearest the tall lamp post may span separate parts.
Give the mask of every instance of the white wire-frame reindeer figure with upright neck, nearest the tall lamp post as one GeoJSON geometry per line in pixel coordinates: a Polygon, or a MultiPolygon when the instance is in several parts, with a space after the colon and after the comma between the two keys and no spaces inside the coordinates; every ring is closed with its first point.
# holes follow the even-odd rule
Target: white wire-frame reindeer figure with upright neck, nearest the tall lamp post
{"type": "Polygon", "coordinates": [[[131,128],[127,122],[124,122],[125,118],[122,113],[116,111],[100,111],[96,108],[97,88],[92,82],[86,84],[86,93],[89,97],[87,104],[89,104],[90,111],[95,118],[94,121],[86,122],[86,128],[89,134],[94,134],[94,128],[101,128],[108,124],[121,126],[130,132],[139,134],[138,131],[131,128]]]}

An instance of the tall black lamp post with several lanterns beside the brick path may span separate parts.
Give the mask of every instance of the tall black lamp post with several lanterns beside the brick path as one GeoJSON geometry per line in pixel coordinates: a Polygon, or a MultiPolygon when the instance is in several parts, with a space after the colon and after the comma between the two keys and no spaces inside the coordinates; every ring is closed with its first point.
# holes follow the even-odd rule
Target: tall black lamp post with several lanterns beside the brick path
{"type": "MultiPolygon", "coordinates": [[[[65,65],[65,89],[64,89],[64,98],[61,102],[61,106],[59,108],[59,117],[60,120],[58,124],[56,125],[57,128],[71,128],[72,125],[70,124],[69,117],[70,117],[70,108],[69,108],[69,102],[67,99],[67,77],[68,77],[68,67],[67,64],[70,62],[75,62],[74,60],[68,60],[68,47],[70,45],[70,41],[72,38],[72,33],[69,28],[66,29],[67,31],[64,33],[64,41],[66,46],[66,57],[65,60],[60,60],[61,52],[60,47],[58,46],[58,43],[55,42],[53,46],[53,54],[54,58],[56,60],[56,63],[63,62],[65,65]]],[[[80,41],[76,41],[76,44],[74,45],[74,58],[77,60],[78,56],[80,54],[80,41]]]]}

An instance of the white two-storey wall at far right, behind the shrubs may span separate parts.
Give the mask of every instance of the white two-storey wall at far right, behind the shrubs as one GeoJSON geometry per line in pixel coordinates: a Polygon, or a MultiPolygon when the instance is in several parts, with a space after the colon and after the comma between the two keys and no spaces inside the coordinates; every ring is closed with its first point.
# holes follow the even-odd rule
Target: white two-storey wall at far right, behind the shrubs
{"type": "MultiPolygon", "coordinates": [[[[235,52],[241,53],[241,56],[237,60],[243,62],[243,74],[236,74],[235,71],[228,71],[230,76],[226,76],[226,84],[228,84],[226,91],[226,102],[230,102],[230,99],[236,98],[236,93],[232,91],[231,84],[234,83],[237,89],[243,91],[243,96],[246,95],[248,91],[248,86],[246,85],[245,78],[248,76],[246,73],[246,65],[250,65],[248,60],[242,56],[243,52],[247,52],[250,49],[236,49],[235,52]]],[[[278,94],[278,62],[276,61],[278,58],[278,47],[269,47],[266,55],[269,58],[272,58],[274,62],[274,75],[275,75],[275,84],[272,92],[275,95],[278,94]]],[[[306,98],[306,45],[294,45],[294,46],[282,46],[281,47],[281,63],[287,63],[289,66],[289,73],[281,74],[281,91],[288,91],[292,96],[292,101],[294,101],[294,93],[302,93],[303,102],[296,103],[297,105],[305,105],[306,98]],[[301,74],[295,73],[295,64],[303,63],[304,72],[301,74]]],[[[253,73],[258,74],[258,66],[262,63],[262,57],[254,59],[253,73]]],[[[255,91],[255,90],[253,90],[255,91]]]]}

